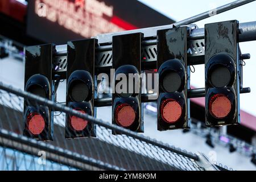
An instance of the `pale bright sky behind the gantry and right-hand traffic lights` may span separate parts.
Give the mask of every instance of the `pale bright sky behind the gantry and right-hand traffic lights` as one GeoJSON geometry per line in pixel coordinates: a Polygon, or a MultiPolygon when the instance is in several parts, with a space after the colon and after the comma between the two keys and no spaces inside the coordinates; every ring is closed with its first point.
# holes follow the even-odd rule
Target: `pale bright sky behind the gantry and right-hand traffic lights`
{"type": "MultiPolygon", "coordinates": [[[[203,13],[204,11],[214,9],[215,7],[225,5],[233,1],[230,0],[207,0],[207,1],[172,1],[172,0],[139,0],[150,6],[152,9],[174,19],[175,21],[189,18],[190,16],[203,13]]],[[[205,23],[221,22],[225,20],[237,19],[239,22],[256,21],[256,1],[247,5],[237,7],[236,9],[226,11],[200,22],[196,22],[200,28],[205,23]]],[[[256,116],[256,41],[240,43],[242,53],[250,53],[251,59],[245,60],[243,67],[243,86],[249,86],[251,93],[241,94],[241,109],[256,116]]],[[[191,75],[191,85],[198,88],[204,87],[204,65],[197,65],[196,72],[191,75]]]]}

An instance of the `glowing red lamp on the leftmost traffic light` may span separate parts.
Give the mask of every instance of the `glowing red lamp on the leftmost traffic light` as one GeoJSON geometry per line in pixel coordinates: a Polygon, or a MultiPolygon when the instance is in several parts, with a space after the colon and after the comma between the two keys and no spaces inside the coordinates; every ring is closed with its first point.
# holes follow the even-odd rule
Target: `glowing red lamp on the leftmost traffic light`
{"type": "Polygon", "coordinates": [[[46,122],[41,114],[30,113],[27,116],[27,127],[33,135],[39,135],[43,132],[46,122]]]}

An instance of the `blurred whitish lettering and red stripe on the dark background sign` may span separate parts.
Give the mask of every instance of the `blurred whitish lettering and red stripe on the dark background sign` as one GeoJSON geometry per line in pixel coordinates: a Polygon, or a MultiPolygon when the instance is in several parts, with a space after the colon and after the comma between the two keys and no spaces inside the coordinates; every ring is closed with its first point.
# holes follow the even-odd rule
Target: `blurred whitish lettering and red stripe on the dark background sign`
{"type": "Polygon", "coordinates": [[[97,0],[36,0],[35,14],[85,38],[137,27],[113,15],[113,6],[97,0]]]}

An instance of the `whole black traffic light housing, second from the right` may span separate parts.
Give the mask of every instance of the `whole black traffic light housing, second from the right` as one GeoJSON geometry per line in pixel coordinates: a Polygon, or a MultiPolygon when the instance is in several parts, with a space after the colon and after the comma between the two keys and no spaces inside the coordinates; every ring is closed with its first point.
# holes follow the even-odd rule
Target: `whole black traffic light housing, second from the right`
{"type": "Polygon", "coordinates": [[[174,27],[157,32],[160,131],[190,128],[187,34],[188,27],[174,27]]]}

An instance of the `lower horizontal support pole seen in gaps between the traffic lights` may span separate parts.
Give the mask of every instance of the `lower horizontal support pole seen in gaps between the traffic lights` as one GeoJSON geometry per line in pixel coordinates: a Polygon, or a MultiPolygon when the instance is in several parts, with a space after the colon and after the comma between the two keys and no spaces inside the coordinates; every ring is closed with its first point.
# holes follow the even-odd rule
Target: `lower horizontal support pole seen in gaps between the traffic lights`
{"type": "MultiPolygon", "coordinates": [[[[250,93],[251,89],[249,87],[242,88],[240,93],[250,93]]],[[[188,90],[188,98],[196,98],[196,97],[204,97],[205,96],[205,88],[198,88],[198,89],[189,89],[188,90]]],[[[155,102],[157,98],[157,94],[142,94],[141,100],[142,102],[155,102]]],[[[104,107],[104,106],[112,106],[112,97],[106,98],[96,98],[94,100],[94,105],[96,107],[104,107]]]]}

